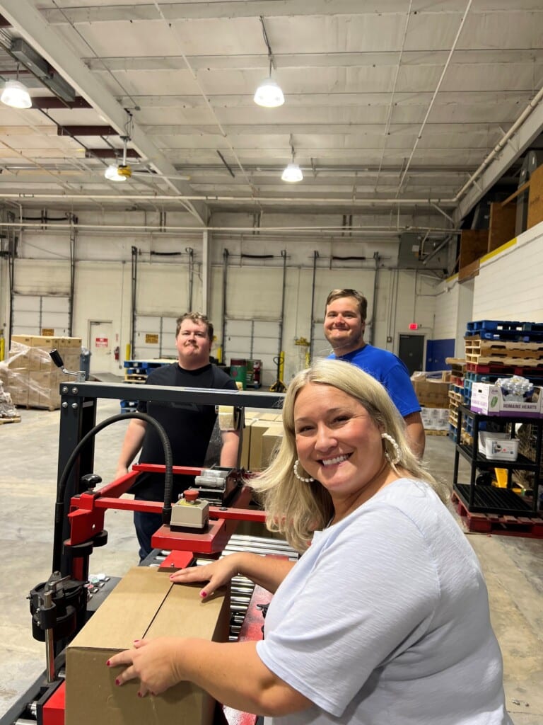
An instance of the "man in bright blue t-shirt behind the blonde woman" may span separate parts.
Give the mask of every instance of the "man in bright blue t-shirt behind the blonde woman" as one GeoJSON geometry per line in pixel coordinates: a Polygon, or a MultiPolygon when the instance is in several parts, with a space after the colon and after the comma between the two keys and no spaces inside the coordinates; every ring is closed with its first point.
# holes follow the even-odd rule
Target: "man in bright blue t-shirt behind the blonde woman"
{"type": "Polygon", "coordinates": [[[355,289],[333,289],[324,313],[324,336],[332,345],[331,358],[347,360],[376,378],[386,389],[405,421],[405,433],[419,458],[424,453],[424,426],[408,369],[388,350],[364,341],[368,300],[355,289]]]}

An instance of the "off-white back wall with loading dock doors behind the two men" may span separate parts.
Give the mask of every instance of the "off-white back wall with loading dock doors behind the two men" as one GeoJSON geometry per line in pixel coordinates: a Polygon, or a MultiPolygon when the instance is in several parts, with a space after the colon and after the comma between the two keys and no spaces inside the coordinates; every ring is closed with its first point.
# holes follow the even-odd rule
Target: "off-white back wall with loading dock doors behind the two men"
{"type": "MultiPolygon", "coordinates": [[[[317,223],[329,222],[337,226],[339,218],[307,215],[294,219],[292,215],[275,215],[264,221],[269,226],[277,226],[277,233],[264,237],[236,227],[237,224],[246,227],[249,218],[252,215],[215,215],[214,222],[221,229],[210,232],[210,265],[206,270],[203,233],[186,228],[186,215],[169,214],[167,230],[159,231],[158,213],[81,213],[77,217],[79,226],[74,245],[72,334],[81,336],[85,347],[91,346],[89,320],[111,323],[111,345],[118,344],[123,357],[130,341],[132,248],[135,247],[138,315],[173,318],[188,309],[189,252],[192,252],[194,270],[193,309],[201,309],[203,285],[209,274],[207,312],[215,325],[214,352],[223,345],[224,251],[228,251],[226,312],[231,320],[279,320],[282,252],[285,252],[282,331],[285,381],[305,363],[306,347],[297,345],[296,341],[312,339],[313,356],[329,353],[322,333],[324,302],[329,291],[337,287],[352,287],[366,295],[369,321],[374,317],[374,326],[369,327],[366,337],[371,333],[374,344],[379,347],[397,352],[398,336],[407,334],[412,322],[421,326],[419,334],[424,334],[426,339],[434,337],[435,278],[422,267],[418,271],[397,269],[397,236],[372,239],[368,235],[356,236],[337,230],[323,233],[321,228],[300,236],[292,231],[294,225],[314,227],[317,223]],[[104,225],[101,230],[90,228],[98,224],[104,225]],[[140,224],[140,228],[118,229],[119,225],[135,224],[140,224]],[[287,228],[282,231],[282,227],[287,228]],[[271,258],[261,255],[271,255],[271,258]]],[[[69,223],[62,229],[43,230],[36,225],[22,230],[15,260],[17,292],[68,294],[70,231],[73,233],[69,223]]],[[[0,280],[5,279],[7,260],[0,259],[0,280]]],[[[9,324],[8,313],[6,286],[0,291],[0,323],[4,326],[9,324]]],[[[228,346],[225,361],[229,362],[228,346]]],[[[92,370],[92,359],[90,363],[92,370]]],[[[119,365],[111,356],[111,372],[119,373],[119,370],[122,371],[122,360],[119,365]]],[[[273,381],[275,370],[266,371],[266,375],[269,382],[273,381]]]]}

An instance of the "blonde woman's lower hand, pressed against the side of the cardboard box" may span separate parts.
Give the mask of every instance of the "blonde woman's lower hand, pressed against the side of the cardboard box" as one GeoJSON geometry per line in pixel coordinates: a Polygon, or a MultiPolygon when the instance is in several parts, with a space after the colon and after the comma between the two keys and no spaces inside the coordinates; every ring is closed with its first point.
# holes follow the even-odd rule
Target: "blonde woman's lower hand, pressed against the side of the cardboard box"
{"type": "Polygon", "coordinates": [[[113,655],[107,661],[108,667],[125,666],[117,675],[115,684],[122,685],[131,679],[139,679],[139,697],[145,697],[148,693],[159,695],[177,684],[182,679],[177,671],[181,642],[172,637],[140,639],[134,643],[133,650],[113,655]]]}

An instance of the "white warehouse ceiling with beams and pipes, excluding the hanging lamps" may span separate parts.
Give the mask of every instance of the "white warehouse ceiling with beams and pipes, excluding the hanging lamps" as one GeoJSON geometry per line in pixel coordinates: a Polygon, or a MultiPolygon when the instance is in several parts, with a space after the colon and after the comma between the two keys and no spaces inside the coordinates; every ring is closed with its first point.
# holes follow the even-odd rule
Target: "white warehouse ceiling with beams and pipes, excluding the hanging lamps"
{"type": "Polygon", "coordinates": [[[0,79],[33,99],[0,104],[0,202],[22,209],[458,228],[515,190],[541,140],[541,0],[4,0],[0,14],[0,79]],[[253,101],[270,68],[277,108],[253,101]],[[106,180],[124,150],[132,176],[106,180]],[[281,180],[292,161],[303,181],[281,180]]]}

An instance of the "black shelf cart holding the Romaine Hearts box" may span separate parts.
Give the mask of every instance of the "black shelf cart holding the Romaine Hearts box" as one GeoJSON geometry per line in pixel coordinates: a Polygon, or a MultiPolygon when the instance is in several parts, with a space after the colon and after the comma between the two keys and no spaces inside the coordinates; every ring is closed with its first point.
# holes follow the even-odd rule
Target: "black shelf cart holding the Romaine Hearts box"
{"type": "MultiPolygon", "coordinates": [[[[455,463],[452,473],[452,486],[463,505],[469,513],[494,513],[500,515],[511,516],[538,516],[539,511],[539,487],[541,486],[541,452],[542,452],[542,434],[543,434],[543,418],[529,418],[523,415],[484,415],[483,413],[475,413],[466,405],[458,406],[458,423],[456,428],[456,445],[455,445],[455,463]],[[473,447],[461,442],[462,435],[462,418],[463,415],[473,418],[473,447]],[[515,461],[490,460],[479,453],[479,424],[482,421],[492,421],[494,423],[527,423],[536,426],[536,460],[535,462],[526,458],[526,456],[518,455],[515,461]],[[462,455],[470,463],[470,482],[469,484],[458,483],[458,460],[462,455]],[[489,468],[505,468],[508,471],[508,488],[499,489],[494,486],[482,486],[476,484],[476,471],[488,471],[489,468]],[[534,497],[530,506],[523,498],[510,490],[511,472],[514,469],[534,472],[534,497]]],[[[513,426],[512,436],[515,430],[513,426]]]]}

